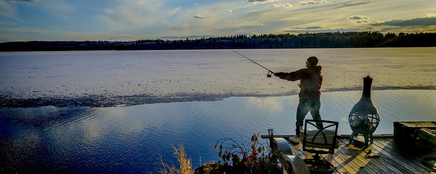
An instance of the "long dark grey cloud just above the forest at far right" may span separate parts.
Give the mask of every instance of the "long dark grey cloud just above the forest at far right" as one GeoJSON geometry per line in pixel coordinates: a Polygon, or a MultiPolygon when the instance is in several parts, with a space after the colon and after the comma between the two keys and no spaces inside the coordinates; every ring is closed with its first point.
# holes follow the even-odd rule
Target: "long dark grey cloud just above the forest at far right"
{"type": "Polygon", "coordinates": [[[412,19],[396,19],[396,20],[388,20],[380,23],[373,23],[373,26],[398,26],[398,27],[406,27],[406,26],[436,26],[436,17],[417,17],[412,19]]]}

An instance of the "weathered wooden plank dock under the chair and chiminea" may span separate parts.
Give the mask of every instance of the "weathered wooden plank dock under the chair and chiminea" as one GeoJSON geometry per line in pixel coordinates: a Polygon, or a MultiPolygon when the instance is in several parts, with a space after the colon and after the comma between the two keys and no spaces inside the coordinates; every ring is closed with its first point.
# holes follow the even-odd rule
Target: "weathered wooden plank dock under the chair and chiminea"
{"type": "MultiPolygon", "coordinates": [[[[273,137],[287,140],[290,136],[273,137]]],[[[262,138],[269,136],[262,135],[262,138]]],[[[392,134],[375,136],[374,142],[366,148],[359,141],[347,145],[348,138],[338,138],[340,147],[335,149],[331,162],[336,167],[333,174],[436,174],[436,169],[421,163],[424,157],[436,157],[435,149],[402,147],[395,143],[392,134]],[[380,157],[368,157],[376,154],[380,157]]],[[[289,144],[293,154],[304,159],[302,144],[289,144]]]]}

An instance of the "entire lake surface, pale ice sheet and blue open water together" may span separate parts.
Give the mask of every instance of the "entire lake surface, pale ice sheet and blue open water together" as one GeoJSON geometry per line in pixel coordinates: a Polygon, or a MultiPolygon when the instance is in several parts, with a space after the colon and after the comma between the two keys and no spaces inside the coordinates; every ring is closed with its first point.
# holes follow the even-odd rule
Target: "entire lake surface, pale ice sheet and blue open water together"
{"type": "MultiPolygon", "coordinates": [[[[320,57],[320,114],[340,134],[351,134],[347,117],[368,74],[375,134],[392,134],[394,121],[436,120],[435,48],[236,51],[274,72],[320,57]]],[[[230,50],[16,52],[0,63],[0,171],[158,173],[160,159],[177,163],[173,146],[198,167],[219,160],[221,138],[295,130],[298,82],[267,78],[230,50]]]]}

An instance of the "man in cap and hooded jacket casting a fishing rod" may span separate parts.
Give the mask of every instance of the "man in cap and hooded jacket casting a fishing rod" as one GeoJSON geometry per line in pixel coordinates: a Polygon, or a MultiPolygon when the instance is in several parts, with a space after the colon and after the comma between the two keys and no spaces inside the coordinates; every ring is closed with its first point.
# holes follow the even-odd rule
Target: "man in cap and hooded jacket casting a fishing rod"
{"type": "MultiPolygon", "coordinates": [[[[300,143],[300,126],[303,126],[304,118],[310,111],[313,120],[321,120],[320,108],[321,108],[321,85],[323,84],[323,75],[321,75],[321,66],[317,66],[318,58],[309,57],[306,62],[306,67],[301,70],[297,70],[291,73],[274,73],[274,76],[281,79],[296,81],[300,80],[298,86],[301,88],[298,94],[300,103],[297,107],[296,114],[296,134],[294,137],[290,137],[289,141],[292,143],[300,143]]],[[[317,122],[317,127],[323,128],[323,124],[317,122]]]]}

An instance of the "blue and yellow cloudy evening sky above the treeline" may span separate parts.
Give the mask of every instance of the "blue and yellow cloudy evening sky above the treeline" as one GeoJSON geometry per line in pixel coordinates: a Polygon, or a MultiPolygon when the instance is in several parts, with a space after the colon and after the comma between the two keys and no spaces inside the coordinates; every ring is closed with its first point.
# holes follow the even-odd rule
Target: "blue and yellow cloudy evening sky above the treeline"
{"type": "Polygon", "coordinates": [[[436,0],[0,0],[0,43],[436,32],[436,0]]]}

